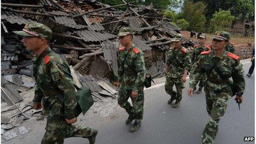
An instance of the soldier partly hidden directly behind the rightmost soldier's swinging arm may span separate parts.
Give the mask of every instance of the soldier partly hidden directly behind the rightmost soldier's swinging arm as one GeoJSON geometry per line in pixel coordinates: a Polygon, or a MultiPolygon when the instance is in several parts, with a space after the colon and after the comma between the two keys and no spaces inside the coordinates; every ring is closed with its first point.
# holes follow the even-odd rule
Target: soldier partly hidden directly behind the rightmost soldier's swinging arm
{"type": "MultiPolygon", "coordinates": [[[[206,42],[206,35],[201,34],[199,36],[199,46],[195,45],[195,49],[193,51],[193,55],[191,58],[191,61],[193,63],[193,65],[195,64],[196,60],[198,60],[198,56],[200,55],[200,53],[202,51],[209,51],[211,49],[210,45],[205,46],[205,42],[206,42]]],[[[193,70],[191,70],[192,72],[193,70]]],[[[203,76],[200,78],[200,82],[199,82],[199,89],[196,93],[200,94],[202,93],[202,87],[204,87],[204,82],[205,82],[206,76],[203,76]]],[[[196,89],[196,87],[194,88],[194,90],[196,89]]]]}

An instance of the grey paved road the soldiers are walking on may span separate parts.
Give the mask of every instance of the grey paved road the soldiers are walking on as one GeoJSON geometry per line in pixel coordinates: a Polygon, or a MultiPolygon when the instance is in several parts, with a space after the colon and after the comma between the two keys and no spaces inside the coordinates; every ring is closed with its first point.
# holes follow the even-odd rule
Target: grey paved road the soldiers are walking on
{"type": "MultiPolygon", "coordinates": [[[[243,61],[244,62],[244,61],[243,61]]],[[[248,72],[250,63],[244,64],[245,74],[248,72]]],[[[130,133],[125,125],[127,114],[124,109],[117,107],[115,112],[108,118],[101,119],[92,116],[83,124],[96,127],[99,131],[97,143],[200,143],[200,136],[204,130],[209,116],[206,112],[205,94],[194,94],[188,97],[186,90],[188,81],[183,92],[180,107],[172,108],[167,104],[168,94],[164,90],[163,83],[158,83],[145,90],[144,118],[141,129],[130,133]]],[[[44,129],[44,125],[40,125],[44,129]]],[[[16,141],[6,143],[39,143],[44,130],[36,130],[37,134],[24,137],[16,141]]],[[[31,133],[31,132],[30,132],[31,133]]],[[[30,134],[31,135],[31,134],[30,134]]],[[[254,74],[251,78],[246,77],[246,90],[244,92],[241,111],[234,98],[228,102],[225,116],[220,120],[219,131],[215,143],[252,143],[244,142],[244,136],[254,136],[254,74]]],[[[83,138],[67,138],[65,143],[88,143],[83,138]]]]}

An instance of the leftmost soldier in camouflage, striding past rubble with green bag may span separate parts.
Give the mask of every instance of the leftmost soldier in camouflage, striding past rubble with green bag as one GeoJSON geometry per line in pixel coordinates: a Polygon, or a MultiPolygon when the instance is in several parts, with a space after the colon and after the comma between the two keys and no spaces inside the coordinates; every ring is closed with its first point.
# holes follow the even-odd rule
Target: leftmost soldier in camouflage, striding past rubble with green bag
{"type": "Polygon", "coordinates": [[[33,66],[36,81],[33,108],[42,108],[41,114],[47,116],[46,132],[41,143],[63,143],[64,138],[77,136],[88,138],[90,143],[94,143],[97,130],[72,125],[77,121],[74,115],[77,105],[75,88],[68,64],[49,47],[51,29],[44,24],[28,23],[22,31],[13,32],[24,36],[24,46],[36,54],[33,66]]]}

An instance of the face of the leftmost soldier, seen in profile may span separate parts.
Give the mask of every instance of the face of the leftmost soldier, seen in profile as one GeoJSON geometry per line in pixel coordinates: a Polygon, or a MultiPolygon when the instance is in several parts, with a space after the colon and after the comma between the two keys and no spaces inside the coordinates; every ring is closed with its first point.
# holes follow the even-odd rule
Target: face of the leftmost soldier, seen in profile
{"type": "Polygon", "coordinates": [[[36,51],[41,47],[41,39],[37,37],[24,36],[22,42],[26,49],[30,51],[36,51]]]}

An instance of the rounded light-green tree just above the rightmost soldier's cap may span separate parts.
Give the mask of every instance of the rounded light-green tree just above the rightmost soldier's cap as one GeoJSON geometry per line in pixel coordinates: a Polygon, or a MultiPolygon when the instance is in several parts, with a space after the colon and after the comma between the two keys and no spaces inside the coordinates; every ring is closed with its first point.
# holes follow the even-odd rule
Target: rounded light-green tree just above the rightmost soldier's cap
{"type": "Polygon", "coordinates": [[[235,17],[231,15],[230,10],[215,12],[210,20],[210,32],[214,33],[216,30],[228,31],[234,19],[235,17]]]}

